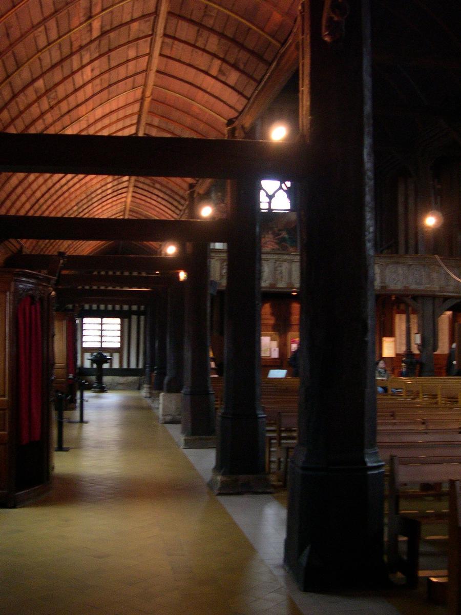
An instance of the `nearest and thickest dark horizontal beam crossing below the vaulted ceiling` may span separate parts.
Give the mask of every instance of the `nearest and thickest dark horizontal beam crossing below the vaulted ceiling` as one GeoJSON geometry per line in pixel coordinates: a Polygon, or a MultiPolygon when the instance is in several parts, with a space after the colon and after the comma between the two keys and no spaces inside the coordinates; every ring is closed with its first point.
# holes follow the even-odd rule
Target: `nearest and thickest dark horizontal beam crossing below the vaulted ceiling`
{"type": "Polygon", "coordinates": [[[296,180],[307,160],[301,142],[0,133],[0,172],[296,180]]]}

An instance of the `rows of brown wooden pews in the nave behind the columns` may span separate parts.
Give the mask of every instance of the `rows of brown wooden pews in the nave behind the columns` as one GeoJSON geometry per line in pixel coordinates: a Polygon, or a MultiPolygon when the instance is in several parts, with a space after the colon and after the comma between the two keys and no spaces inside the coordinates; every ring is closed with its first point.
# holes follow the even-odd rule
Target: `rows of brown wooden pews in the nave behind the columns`
{"type": "MultiPolygon", "coordinates": [[[[388,567],[411,586],[426,576],[429,595],[446,593],[449,615],[461,615],[461,378],[390,378],[386,386],[387,394],[377,395],[377,446],[386,462],[388,567]],[[402,499],[411,506],[402,508],[402,499]],[[433,523],[449,526],[449,539],[443,531],[426,536],[433,523]],[[447,569],[420,570],[422,536],[449,545],[447,569]]],[[[222,379],[213,387],[218,409],[223,404],[222,379]]],[[[282,486],[296,445],[298,397],[297,378],[262,381],[266,469],[282,486]]]]}

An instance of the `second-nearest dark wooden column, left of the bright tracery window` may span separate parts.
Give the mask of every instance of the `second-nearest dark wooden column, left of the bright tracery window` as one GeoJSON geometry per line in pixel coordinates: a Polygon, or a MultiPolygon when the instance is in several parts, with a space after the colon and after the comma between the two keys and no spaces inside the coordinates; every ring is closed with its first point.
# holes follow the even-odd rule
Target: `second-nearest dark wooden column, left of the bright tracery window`
{"type": "Polygon", "coordinates": [[[224,407],[216,429],[215,493],[267,493],[261,410],[261,242],[256,180],[232,184],[227,244],[224,407]]]}

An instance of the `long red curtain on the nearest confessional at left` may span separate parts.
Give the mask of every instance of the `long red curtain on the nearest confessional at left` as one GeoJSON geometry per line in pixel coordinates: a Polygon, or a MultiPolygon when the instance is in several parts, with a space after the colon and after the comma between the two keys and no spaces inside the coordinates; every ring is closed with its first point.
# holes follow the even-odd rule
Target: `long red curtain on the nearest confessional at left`
{"type": "Polygon", "coordinates": [[[42,319],[39,301],[18,304],[18,416],[20,443],[36,442],[42,423],[42,319]]]}

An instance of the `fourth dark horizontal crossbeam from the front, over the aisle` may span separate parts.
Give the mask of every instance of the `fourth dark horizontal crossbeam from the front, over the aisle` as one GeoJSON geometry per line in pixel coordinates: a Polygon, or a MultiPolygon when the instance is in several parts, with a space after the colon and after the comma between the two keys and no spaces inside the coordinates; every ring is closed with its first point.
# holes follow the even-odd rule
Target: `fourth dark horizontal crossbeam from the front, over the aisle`
{"type": "Polygon", "coordinates": [[[175,274],[167,276],[124,276],[122,274],[63,273],[59,276],[57,288],[75,288],[77,286],[156,288],[159,286],[167,286],[175,279],[175,274]]]}

